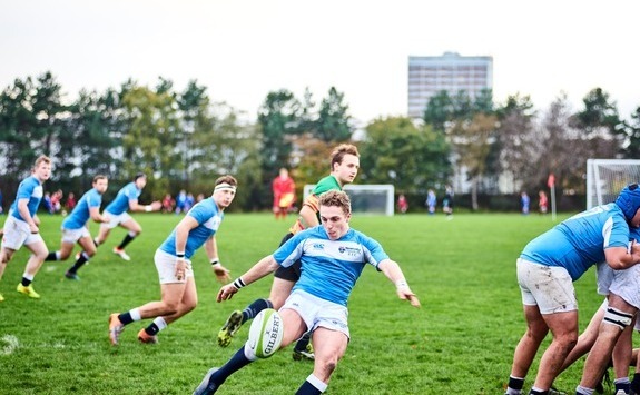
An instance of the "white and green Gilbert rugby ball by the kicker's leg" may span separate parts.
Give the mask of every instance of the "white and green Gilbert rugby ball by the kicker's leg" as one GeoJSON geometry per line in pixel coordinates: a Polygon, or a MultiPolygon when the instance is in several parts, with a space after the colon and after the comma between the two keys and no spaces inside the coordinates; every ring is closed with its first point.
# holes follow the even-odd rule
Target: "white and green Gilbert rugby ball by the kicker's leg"
{"type": "Polygon", "coordinates": [[[264,309],[252,323],[247,346],[258,358],[268,358],[280,348],[284,332],[283,318],[278,312],[264,309]]]}

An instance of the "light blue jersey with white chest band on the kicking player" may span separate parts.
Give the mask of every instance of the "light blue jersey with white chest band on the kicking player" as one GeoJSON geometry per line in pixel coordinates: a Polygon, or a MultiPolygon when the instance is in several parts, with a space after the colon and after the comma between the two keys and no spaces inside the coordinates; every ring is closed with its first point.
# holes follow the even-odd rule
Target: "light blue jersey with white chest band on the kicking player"
{"type": "Polygon", "coordinates": [[[322,299],[346,307],[355,282],[366,264],[374,266],[388,259],[376,240],[349,229],[331,240],[322,225],[303,230],[282,245],[274,258],[283,267],[302,261],[301,278],[294,286],[322,299]]]}

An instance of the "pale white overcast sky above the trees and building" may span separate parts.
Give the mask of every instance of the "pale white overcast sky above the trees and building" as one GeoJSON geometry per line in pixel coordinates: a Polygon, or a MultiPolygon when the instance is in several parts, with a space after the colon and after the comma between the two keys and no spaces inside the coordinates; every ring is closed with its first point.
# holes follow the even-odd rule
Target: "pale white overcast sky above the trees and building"
{"type": "Polygon", "coordinates": [[[70,99],[128,78],[255,118],[269,91],[319,102],[334,86],[363,122],[406,115],[410,56],[493,57],[494,99],[574,110],[595,87],[640,106],[640,1],[0,0],[0,87],[51,71],[70,99]]]}

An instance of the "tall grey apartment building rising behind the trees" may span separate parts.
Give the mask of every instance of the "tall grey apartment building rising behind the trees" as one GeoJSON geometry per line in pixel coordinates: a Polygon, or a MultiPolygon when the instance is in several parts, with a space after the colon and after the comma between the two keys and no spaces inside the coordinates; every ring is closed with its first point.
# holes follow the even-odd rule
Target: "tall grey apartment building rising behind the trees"
{"type": "Polygon", "coordinates": [[[492,57],[408,57],[410,118],[422,118],[429,99],[441,90],[450,96],[464,90],[474,98],[483,89],[493,89],[492,57]]]}

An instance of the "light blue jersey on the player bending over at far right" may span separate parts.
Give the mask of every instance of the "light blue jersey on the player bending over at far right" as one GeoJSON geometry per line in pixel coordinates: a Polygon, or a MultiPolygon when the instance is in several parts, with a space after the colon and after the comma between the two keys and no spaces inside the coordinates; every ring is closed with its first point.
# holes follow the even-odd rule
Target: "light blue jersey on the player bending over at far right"
{"type": "Polygon", "coordinates": [[[575,282],[589,267],[607,260],[604,249],[628,245],[629,225],[622,210],[611,203],[580,213],[538,236],[520,257],[564,267],[575,282]]]}

